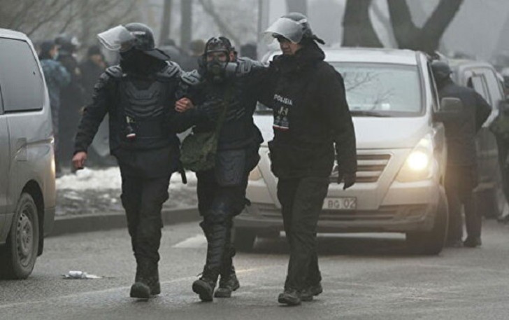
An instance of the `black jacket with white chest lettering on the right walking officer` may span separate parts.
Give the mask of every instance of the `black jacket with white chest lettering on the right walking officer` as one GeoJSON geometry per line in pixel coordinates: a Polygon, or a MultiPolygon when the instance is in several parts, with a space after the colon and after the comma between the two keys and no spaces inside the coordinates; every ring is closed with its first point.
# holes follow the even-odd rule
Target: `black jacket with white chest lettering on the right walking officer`
{"type": "Polygon", "coordinates": [[[357,171],[352,116],[340,74],[314,43],[271,62],[264,104],[274,113],[269,142],[272,169],[280,178],[329,176],[334,151],[340,174],[357,171]],[[336,150],[334,150],[336,149],[336,150]]]}

